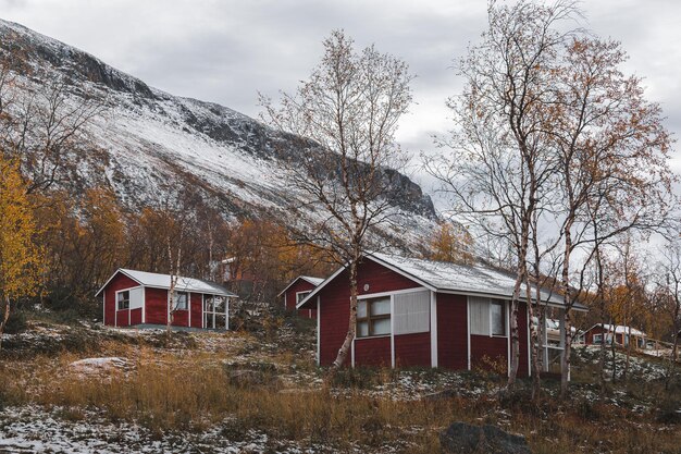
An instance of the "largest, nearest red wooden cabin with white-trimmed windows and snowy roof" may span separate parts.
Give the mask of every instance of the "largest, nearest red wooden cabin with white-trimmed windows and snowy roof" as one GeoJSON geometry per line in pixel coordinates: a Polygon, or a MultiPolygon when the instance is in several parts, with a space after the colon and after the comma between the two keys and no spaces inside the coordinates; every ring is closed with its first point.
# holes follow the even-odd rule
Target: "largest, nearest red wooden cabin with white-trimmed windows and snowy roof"
{"type": "MultiPolygon", "coordinates": [[[[348,366],[471,369],[494,363],[508,370],[513,284],[513,275],[487,266],[368,254],[358,270],[357,335],[348,366]]],[[[321,366],[331,365],[343,344],[349,299],[348,272],[340,268],[297,305],[317,308],[321,366]]],[[[548,291],[542,303],[557,312],[565,308],[562,297],[548,291]]],[[[522,302],[519,376],[530,373],[528,320],[522,302]]],[[[560,345],[545,345],[547,357],[562,351],[560,345]]]]}

